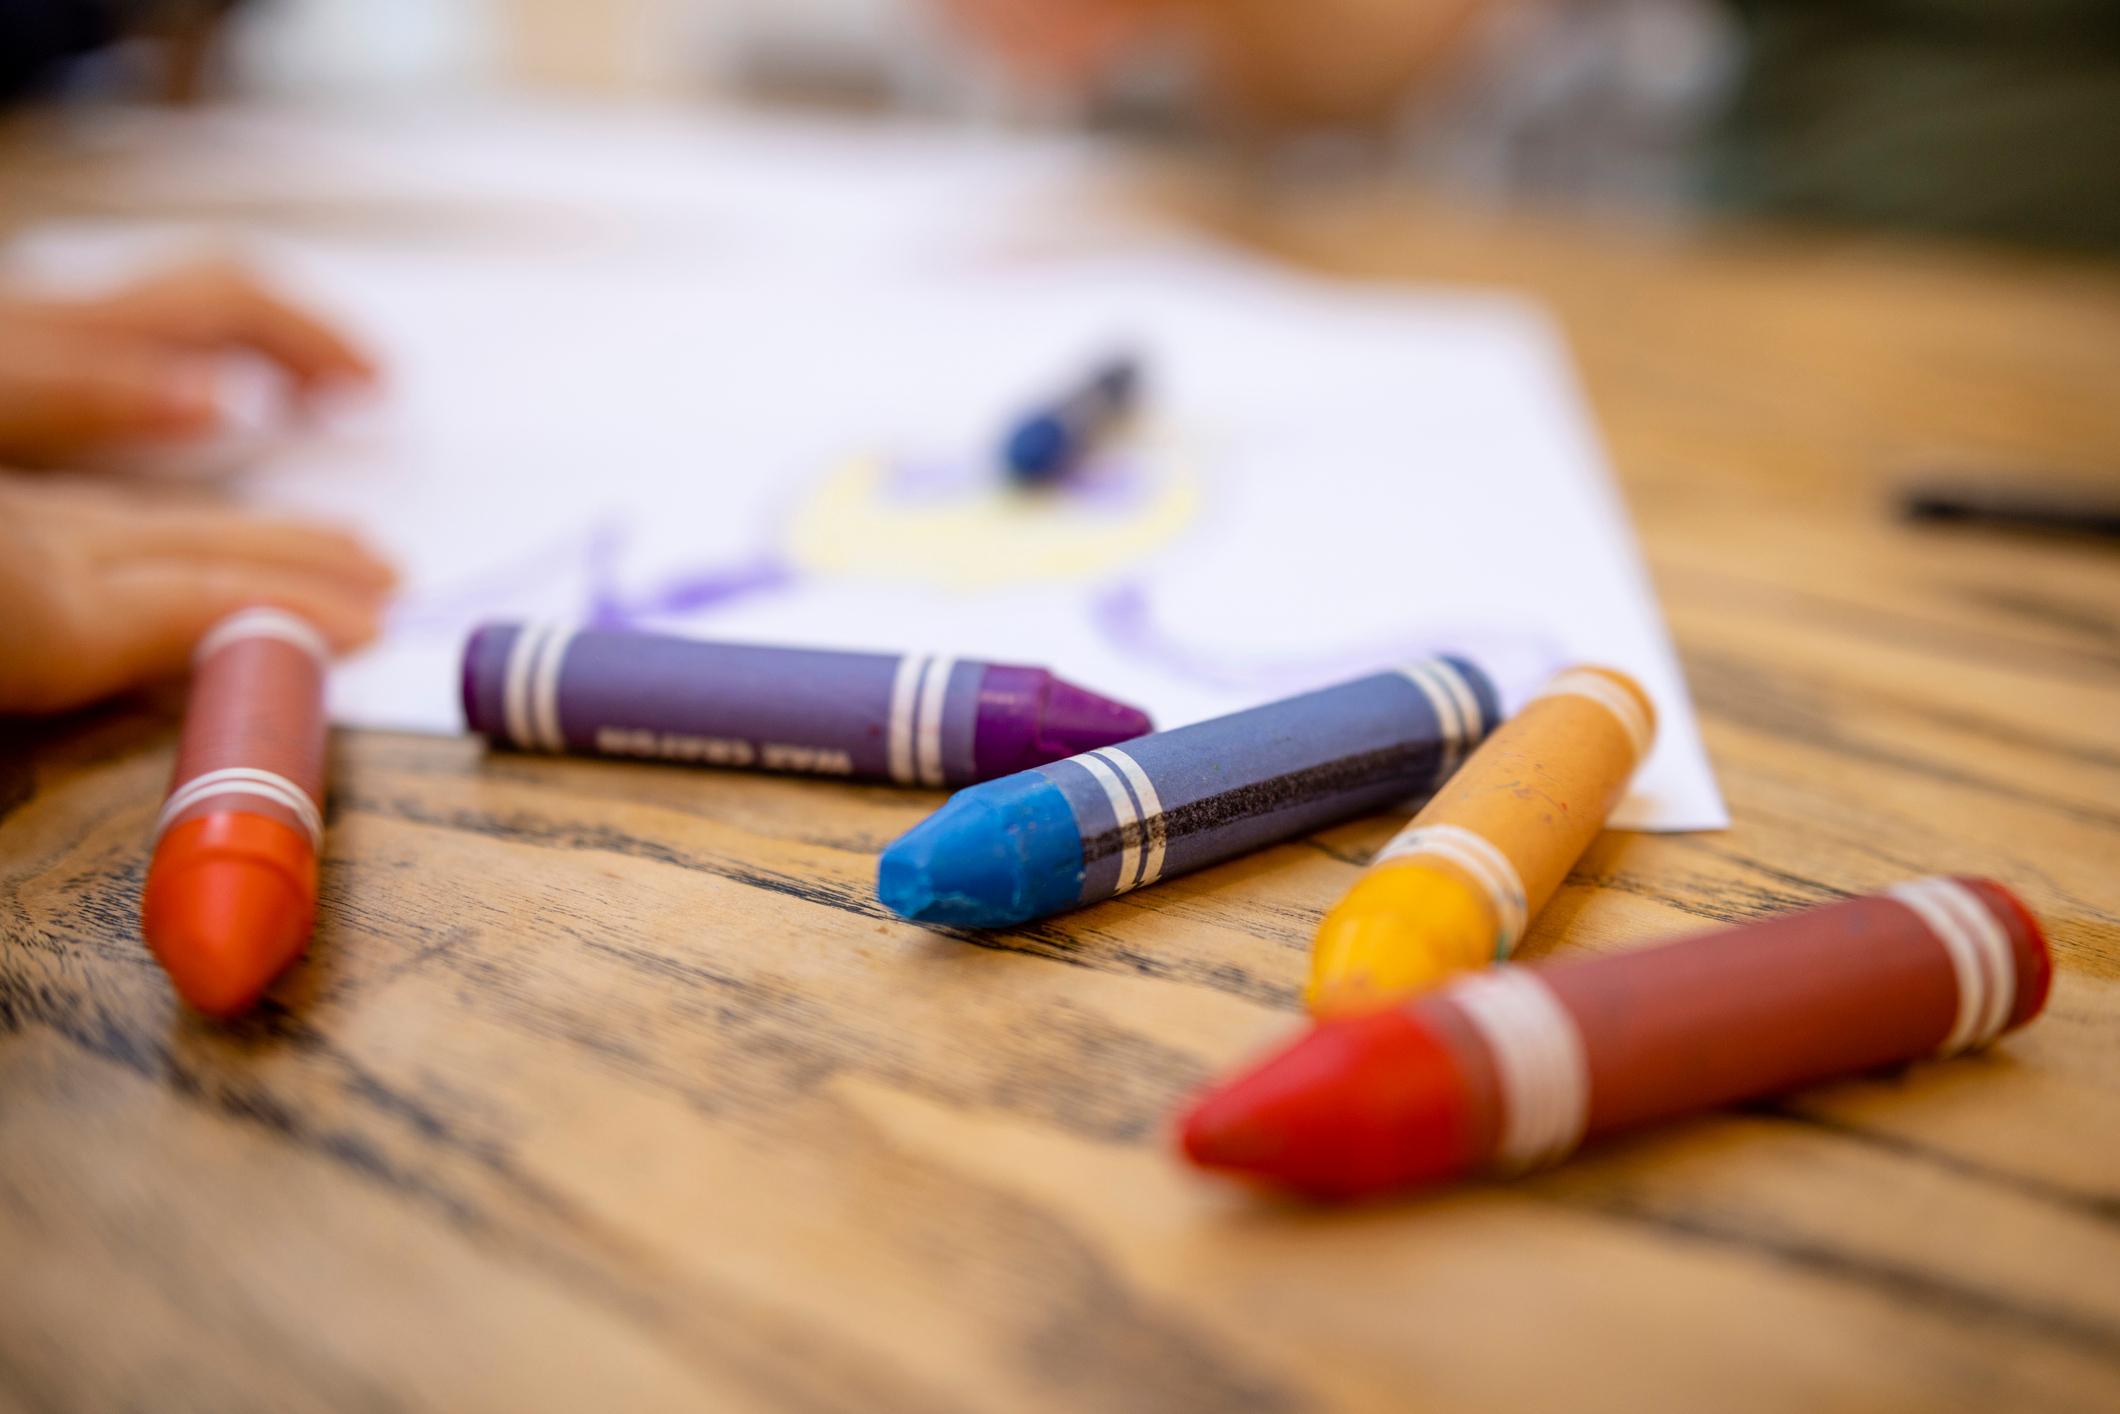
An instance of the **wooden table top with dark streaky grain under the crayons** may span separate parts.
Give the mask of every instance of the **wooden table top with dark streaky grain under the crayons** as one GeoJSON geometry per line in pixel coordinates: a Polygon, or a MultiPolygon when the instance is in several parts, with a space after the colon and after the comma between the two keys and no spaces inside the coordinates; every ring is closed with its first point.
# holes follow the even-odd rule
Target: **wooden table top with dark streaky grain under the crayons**
{"type": "Polygon", "coordinates": [[[1605,837],[1526,956],[1976,871],[2050,926],[2046,1018],[1529,1181],[1278,1206],[1166,1126],[1291,1032],[1393,818],[975,937],[871,892],[929,793],[341,733],[316,945],[218,1028],[134,920],[176,723],[110,708],[0,761],[0,1403],[2120,1403],[2120,558],[1887,498],[1931,458],[2112,481],[2120,278],[1177,206],[1575,339],[1736,827],[1605,837]]]}

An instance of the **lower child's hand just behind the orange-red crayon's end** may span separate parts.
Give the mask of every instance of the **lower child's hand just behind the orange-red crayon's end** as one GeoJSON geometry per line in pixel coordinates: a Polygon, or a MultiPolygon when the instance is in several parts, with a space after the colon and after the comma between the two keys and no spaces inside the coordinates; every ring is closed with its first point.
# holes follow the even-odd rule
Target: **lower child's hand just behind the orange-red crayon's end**
{"type": "Polygon", "coordinates": [[[59,712],[184,672],[246,604],[335,649],[375,636],[390,566],[297,522],[0,475],[0,712],[59,712]]]}

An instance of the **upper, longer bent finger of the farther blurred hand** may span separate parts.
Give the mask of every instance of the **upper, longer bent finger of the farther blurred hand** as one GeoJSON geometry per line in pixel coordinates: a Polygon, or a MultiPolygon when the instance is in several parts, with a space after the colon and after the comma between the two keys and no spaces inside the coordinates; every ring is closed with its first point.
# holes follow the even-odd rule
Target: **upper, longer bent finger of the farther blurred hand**
{"type": "Polygon", "coordinates": [[[229,263],[184,265],[91,305],[110,333],[191,348],[248,348],[303,386],[375,379],[375,360],[322,316],[280,297],[229,263]]]}

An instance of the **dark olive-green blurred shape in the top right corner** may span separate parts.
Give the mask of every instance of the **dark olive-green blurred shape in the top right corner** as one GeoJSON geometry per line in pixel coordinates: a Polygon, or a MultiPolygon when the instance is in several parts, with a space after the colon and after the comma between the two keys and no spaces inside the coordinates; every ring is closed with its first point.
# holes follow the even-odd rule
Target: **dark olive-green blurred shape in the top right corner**
{"type": "Polygon", "coordinates": [[[1734,0],[1713,195],[1783,218],[2120,250],[2120,0],[1734,0]]]}

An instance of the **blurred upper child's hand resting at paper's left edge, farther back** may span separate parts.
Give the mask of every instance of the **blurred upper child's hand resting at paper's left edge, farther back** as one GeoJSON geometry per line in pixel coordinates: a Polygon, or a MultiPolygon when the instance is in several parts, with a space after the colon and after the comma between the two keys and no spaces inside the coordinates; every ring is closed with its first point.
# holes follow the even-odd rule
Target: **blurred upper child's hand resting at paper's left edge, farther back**
{"type": "Polygon", "coordinates": [[[0,301],[0,460],[53,464],[214,428],[218,354],[248,350],[301,390],[375,365],[235,265],[184,265],[100,299],[0,301]]]}

